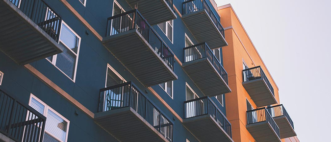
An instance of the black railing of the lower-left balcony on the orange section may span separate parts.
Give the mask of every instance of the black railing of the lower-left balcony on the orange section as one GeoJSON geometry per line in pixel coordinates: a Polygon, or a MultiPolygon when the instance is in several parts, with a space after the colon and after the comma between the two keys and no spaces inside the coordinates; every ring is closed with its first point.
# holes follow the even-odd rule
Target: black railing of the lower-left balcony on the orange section
{"type": "Polygon", "coordinates": [[[275,120],[271,117],[269,112],[266,110],[266,108],[247,111],[247,124],[254,124],[264,121],[269,122],[278,137],[280,137],[280,128],[276,124],[275,120]]]}

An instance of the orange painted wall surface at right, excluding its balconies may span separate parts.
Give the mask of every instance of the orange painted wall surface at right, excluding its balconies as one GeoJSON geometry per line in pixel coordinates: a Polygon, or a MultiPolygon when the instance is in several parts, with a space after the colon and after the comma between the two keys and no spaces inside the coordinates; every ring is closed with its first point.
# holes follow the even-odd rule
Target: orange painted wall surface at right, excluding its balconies
{"type": "MultiPolygon", "coordinates": [[[[221,24],[225,29],[225,39],[229,46],[222,47],[224,68],[229,73],[229,87],[232,92],[226,94],[227,118],[232,125],[232,139],[234,142],[255,142],[246,129],[246,98],[256,109],[254,101],[243,87],[243,62],[249,68],[261,66],[265,75],[274,88],[275,98],[280,104],[279,88],[259,56],[253,42],[230,4],[218,7],[221,24]]],[[[276,104],[274,104],[276,105],[276,104]]],[[[300,142],[297,137],[282,139],[282,142],[300,142]]]]}

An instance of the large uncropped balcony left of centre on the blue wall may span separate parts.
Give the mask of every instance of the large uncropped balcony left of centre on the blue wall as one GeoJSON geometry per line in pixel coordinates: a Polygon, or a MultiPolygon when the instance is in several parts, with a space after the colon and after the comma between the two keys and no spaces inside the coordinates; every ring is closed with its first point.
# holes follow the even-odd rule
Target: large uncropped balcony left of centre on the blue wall
{"type": "Polygon", "coordinates": [[[178,79],[174,53],[138,10],[108,18],[102,44],[145,87],[178,79]]]}

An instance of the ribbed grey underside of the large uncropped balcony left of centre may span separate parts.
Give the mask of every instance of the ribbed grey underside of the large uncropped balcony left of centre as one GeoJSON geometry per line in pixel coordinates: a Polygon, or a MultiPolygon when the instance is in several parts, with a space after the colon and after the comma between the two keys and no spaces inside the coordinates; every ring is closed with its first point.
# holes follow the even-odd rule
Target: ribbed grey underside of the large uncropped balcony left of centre
{"type": "Polygon", "coordinates": [[[136,29],[105,37],[102,44],[145,87],[178,79],[136,29]]]}

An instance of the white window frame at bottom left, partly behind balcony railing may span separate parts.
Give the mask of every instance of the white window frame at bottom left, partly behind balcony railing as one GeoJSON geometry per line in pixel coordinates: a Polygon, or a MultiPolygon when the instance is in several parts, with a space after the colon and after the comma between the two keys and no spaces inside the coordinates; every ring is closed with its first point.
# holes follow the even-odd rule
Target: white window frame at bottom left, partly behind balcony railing
{"type": "MultiPolygon", "coordinates": [[[[67,142],[68,141],[68,135],[69,135],[69,125],[70,125],[70,121],[67,119],[67,118],[65,118],[65,117],[63,117],[61,114],[59,114],[58,112],[56,112],[54,109],[52,109],[49,105],[47,105],[45,102],[43,102],[42,100],[40,100],[38,97],[36,97],[35,95],[33,95],[32,93],[31,93],[31,95],[30,95],[30,99],[29,99],[29,106],[30,106],[30,104],[31,104],[31,100],[32,100],[32,97],[35,99],[35,100],[37,100],[39,103],[41,103],[42,105],[44,105],[44,114],[42,114],[43,116],[45,116],[46,118],[47,118],[47,115],[48,115],[48,110],[51,110],[55,115],[57,115],[58,117],[60,117],[60,118],[62,118],[63,120],[65,120],[68,124],[67,124],[67,132],[66,132],[66,140],[65,140],[65,142],[67,142]]],[[[47,123],[47,122],[46,122],[47,123]]],[[[45,132],[46,132],[47,130],[45,129],[45,132]]],[[[56,139],[57,141],[59,141],[59,142],[62,142],[61,140],[58,140],[56,137],[54,137],[51,133],[48,133],[48,134],[50,134],[51,136],[52,136],[52,138],[54,138],[54,139],[56,139]]],[[[44,140],[43,140],[44,141],[44,140]]]]}

